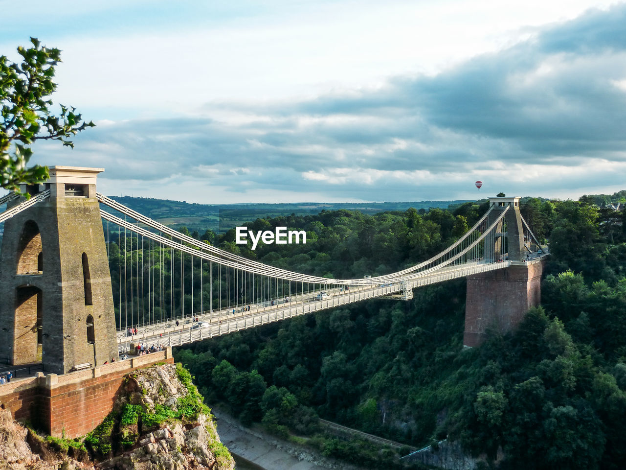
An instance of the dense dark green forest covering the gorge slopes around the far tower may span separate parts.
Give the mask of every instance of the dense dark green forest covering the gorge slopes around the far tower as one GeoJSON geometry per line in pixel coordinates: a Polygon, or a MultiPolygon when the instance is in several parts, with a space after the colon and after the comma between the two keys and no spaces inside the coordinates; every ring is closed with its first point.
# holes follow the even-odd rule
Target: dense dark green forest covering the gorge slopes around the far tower
{"type": "MultiPolygon", "coordinates": [[[[468,202],[257,219],[250,229],[288,226],[309,238],[255,251],[236,245],[233,231],[193,235],[274,266],[361,277],[428,258],[485,210],[468,202]]],[[[542,305],[515,334],[464,349],[461,280],[416,290],[409,302],[372,300],[213,338],[175,358],[208,403],[275,434],[314,436],[326,455],[384,458],[320,437],[317,417],[413,446],[448,437],[501,469],[622,468],[626,212],[590,197],[525,199],[521,211],[552,254],[542,305]]]]}

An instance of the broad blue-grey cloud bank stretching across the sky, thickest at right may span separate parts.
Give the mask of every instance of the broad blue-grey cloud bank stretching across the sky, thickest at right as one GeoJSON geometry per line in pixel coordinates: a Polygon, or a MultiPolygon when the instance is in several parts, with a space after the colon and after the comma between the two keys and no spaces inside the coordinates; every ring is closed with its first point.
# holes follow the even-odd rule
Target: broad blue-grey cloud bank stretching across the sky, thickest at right
{"type": "MultiPolygon", "coordinates": [[[[243,194],[319,192],[324,200],[406,200],[416,199],[415,191],[450,199],[457,196],[439,175],[488,171],[491,162],[623,162],[626,90],[615,83],[626,79],[624,24],[626,4],[590,11],[436,76],[302,102],[205,105],[253,117],[241,124],[192,117],[118,122],[83,133],[73,152],[46,146],[44,160],[58,164],[52,160],[63,155],[63,164],[105,166],[110,179],[180,178],[243,194]],[[368,184],[302,177],[342,168],[428,170],[433,181],[416,189],[390,177],[368,184]]],[[[593,177],[613,181],[615,171],[606,172],[593,177]]],[[[545,174],[536,190],[545,194],[548,184],[556,190],[584,182],[545,174]]]]}

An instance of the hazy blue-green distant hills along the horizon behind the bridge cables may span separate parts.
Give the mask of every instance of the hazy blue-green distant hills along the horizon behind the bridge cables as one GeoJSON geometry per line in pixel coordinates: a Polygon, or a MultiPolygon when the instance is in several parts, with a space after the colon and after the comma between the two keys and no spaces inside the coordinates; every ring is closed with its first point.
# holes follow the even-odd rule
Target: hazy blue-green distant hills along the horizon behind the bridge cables
{"type": "Polygon", "coordinates": [[[317,214],[323,210],[336,211],[348,209],[365,214],[384,211],[406,211],[409,207],[425,209],[431,207],[446,208],[468,201],[413,201],[413,202],[295,202],[279,204],[188,204],[185,201],[169,201],[150,197],[110,196],[141,214],[168,226],[186,226],[188,229],[214,232],[226,232],[244,222],[263,217],[305,216],[317,214]]]}

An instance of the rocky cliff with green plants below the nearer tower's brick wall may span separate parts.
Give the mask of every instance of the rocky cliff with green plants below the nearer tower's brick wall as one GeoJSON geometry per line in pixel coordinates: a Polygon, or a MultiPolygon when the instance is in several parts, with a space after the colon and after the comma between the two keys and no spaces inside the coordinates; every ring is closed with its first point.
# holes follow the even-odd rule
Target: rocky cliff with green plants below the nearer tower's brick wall
{"type": "Polygon", "coordinates": [[[232,470],[208,408],[180,365],[125,377],[113,411],[83,439],[37,436],[0,413],[0,469],[232,470]]]}

